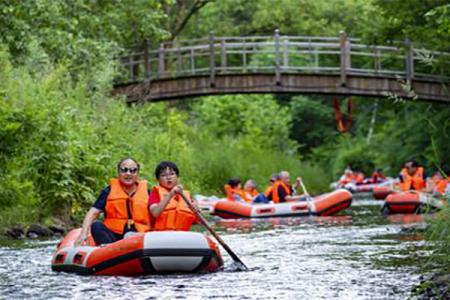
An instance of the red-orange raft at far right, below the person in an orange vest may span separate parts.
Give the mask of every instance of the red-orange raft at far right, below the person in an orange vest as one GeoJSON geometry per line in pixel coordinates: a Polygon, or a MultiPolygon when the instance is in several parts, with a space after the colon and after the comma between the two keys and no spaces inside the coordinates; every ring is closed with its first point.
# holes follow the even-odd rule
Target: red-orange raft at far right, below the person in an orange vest
{"type": "Polygon", "coordinates": [[[425,193],[394,192],[387,196],[383,214],[420,214],[444,207],[445,202],[425,193]]]}

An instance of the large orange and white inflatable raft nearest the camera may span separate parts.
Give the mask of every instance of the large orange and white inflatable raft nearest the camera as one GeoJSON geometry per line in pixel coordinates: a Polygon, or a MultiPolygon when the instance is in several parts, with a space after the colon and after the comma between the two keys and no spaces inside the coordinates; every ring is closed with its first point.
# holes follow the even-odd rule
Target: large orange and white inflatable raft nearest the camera
{"type": "Polygon", "coordinates": [[[58,244],[52,270],[81,275],[139,276],[213,272],[223,265],[217,245],[198,232],[139,233],[112,244],[74,247],[80,229],[58,244]]]}

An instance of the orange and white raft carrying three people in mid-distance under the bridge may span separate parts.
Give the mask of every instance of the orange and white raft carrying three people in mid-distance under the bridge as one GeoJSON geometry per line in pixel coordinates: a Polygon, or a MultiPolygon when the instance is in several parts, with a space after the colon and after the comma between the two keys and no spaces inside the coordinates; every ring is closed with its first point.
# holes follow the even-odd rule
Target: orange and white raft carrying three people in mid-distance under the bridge
{"type": "Polygon", "coordinates": [[[251,205],[221,200],[215,204],[212,213],[224,219],[330,216],[349,207],[351,202],[352,194],[345,189],[339,189],[313,197],[311,201],[251,205]]]}

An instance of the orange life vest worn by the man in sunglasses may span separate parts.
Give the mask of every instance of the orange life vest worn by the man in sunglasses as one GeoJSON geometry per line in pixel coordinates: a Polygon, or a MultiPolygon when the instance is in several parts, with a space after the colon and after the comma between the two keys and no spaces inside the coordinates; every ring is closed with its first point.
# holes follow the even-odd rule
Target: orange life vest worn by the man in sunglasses
{"type": "Polygon", "coordinates": [[[149,230],[148,182],[139,180],[136,192],[131,197],[122,189],[118,179],[111,178],[109,186],[111,191],[106,198],[105,226],[118,234],[123,234],[126,224],[129,228],[134,225],[138,232],[149,230]],[[128,213],[132,219],[129,219],[128,213]]]}

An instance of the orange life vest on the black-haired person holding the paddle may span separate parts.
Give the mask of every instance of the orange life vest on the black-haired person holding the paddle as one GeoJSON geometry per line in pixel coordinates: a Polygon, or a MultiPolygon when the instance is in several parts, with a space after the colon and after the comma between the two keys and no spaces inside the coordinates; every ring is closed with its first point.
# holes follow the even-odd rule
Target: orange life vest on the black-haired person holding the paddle
{"type": "MultiPolygon", "coordinates": [[[[155,186],[153,191],[158,191],[159,199],[162,201],[164,195],[169,193],[167,189],[161,186],[155,186]]],[[[152,191],[152,192],[153,192],[152,191]]],[[[191,201],[191,196],[188,191],[183,191],[186,198],[191,201]]],[[[192,201],[191,201],[192,202],[192,201]]],[[[162,230],[179,230],[188,231],[192,223],[197,219],[195,214],[184,202],[180,195],[173,196],[169,203],[167,203],[166,208],[161,212],[161,214],[154,218],[151,217],[151,229],[162,231],[162,230]]]]}

